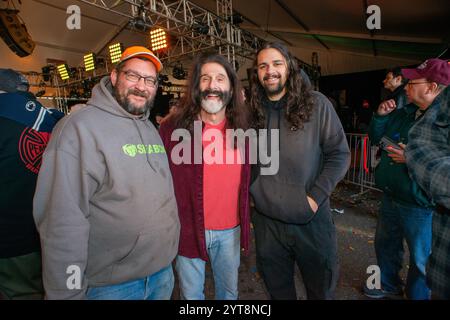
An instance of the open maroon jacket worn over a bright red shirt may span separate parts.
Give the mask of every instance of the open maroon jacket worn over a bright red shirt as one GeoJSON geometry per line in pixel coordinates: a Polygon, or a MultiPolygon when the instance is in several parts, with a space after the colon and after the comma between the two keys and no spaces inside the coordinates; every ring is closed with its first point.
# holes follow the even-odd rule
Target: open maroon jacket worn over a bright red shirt
{"type": "MultiPolygon", "coordinates": [[[[172,123],[164,121],[159,133],[169,158],[170,170],[178,204],[178,215],[181,223],[180,244],[178,254],[188,258],[208,260],[205,240],[205,224],[203,212],[203,164],[194,164],[194,142],[191,142],[191,164],[176,165],[172,161],[172,149],[179,143],[171,141],[175,130],[172,123]]],[[[250,161],[249,147],[245,147],[245,163],[242,168],[239,218],[241,226],[241,248],[248,252],[250,242],[250,161]]]]}

